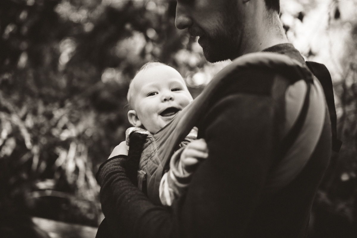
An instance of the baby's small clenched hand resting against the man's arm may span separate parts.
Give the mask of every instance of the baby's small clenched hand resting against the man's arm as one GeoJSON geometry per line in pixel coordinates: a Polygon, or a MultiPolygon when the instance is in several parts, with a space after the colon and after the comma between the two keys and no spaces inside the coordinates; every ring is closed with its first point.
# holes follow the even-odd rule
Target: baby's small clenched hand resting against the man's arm
{"type": "Polygon", "coordinates": [[[205,139],[194,140],[189,143],[181,153],[180,160],[182,168],[186,172],[191,173],[195,169],[195,165],[207,157],[208,147],[205,139]]]}

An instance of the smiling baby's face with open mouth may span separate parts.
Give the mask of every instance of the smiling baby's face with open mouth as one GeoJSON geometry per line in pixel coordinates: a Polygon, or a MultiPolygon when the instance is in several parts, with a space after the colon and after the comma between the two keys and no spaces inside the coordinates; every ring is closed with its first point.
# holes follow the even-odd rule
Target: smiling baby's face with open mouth
{"type": "Polygon", "coordinates": [[[180,73],[170,66],[146,69],[132,83],[134,110],[151,133],[159,131],[193,100],[180,73]]]}

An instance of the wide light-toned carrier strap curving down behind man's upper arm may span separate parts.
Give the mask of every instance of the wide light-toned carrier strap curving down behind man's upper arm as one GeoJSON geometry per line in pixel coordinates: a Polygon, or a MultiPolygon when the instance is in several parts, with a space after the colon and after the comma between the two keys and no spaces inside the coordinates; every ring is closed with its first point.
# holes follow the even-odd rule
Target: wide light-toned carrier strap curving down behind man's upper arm
{"type": "MultiPolygon", "coordinates": [[[[305,79],[305,98],[304,101],[301,101],[299,114],[295,117],[296,120],[290,126],[286,136],[283,137],[278,147],[276,161],[268,173],[264,189],[267,194],[278,192],[286,187],[303,171],[321,140],[323,128],[330,120],[321,83],[316,77],[313,77],[311,72],[310,78],[312,80],[305,79]]],[[[302,86],[300,82],[299,85],[302,86]]],[[[291,101],[290,99],[290,103],[288,103],[288,98],[294,98],[293,95],[302,92],[302,88],[298,87],[298,84],[294,84],[287,90],[285,94],[286,113],[293,115],[291,113],[295,103],[292,102],[295,100],[291,101]]],[[[330,130],[330,128],[328,129],[330,130]]],[[[331,147],[326,149],[331,150],[331,147]]]]}

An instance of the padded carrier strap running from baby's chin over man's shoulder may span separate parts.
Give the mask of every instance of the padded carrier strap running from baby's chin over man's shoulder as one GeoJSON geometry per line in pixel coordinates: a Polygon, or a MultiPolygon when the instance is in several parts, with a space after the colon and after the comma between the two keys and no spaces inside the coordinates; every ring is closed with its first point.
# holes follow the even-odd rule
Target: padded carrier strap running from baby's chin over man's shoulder
{"type": "MultiPolygon", "coordinates": [[[[272,95],[271,90],[274,88],[276,76],[284,80],[287,79],[285,81],[289,84],[307,78],[308,75],[311,77],[311,74],[308,74],[307,70],[305,69],[305,71],[299,64],[288,56],[269,52],[247,54],[233,60],[231,64],[213,77],[190,105],[153,135],[158,145],[159,154],[163,158],[162,163],[168,165],[167,161],[178,143],[193,126],[202,125],[213,108],[220,110],[215,105],[227,95],[236,93],[272,95]]],[[[282,81],[285,82],[284,80],[282,81]]],[[[283,91],[285,90],[276,90],[273,93],[283,91]]],[[[275,97],[275,95],[272,96],[275,97]]],[[[217,115],[217,113],[216,111],[213,114],[217,115]]],[[[200,133],[204,133],[204,131],[200,129],[200,133]]]]}

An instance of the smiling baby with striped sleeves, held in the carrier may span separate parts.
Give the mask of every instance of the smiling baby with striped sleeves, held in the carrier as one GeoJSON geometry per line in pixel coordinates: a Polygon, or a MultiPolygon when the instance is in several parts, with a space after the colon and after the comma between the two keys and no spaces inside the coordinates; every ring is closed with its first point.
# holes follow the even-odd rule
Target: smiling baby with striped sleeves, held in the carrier
{"type": "MultiPolygon", "coordinates": [[[[128,155],[131,132],[155,134],[192,102],[193,98],[179,72],[165,64],[150,62],[131,81],[127,100],[130,107],[128,119],[134,127],[126,131],[126,141],[114,148],[110,158],[113,155],[128,155]]],[[[188,186],[178,182],[177,177],[192,174],[197,163],[208,157],[205,140],[196,138],[197,129],[194,128],[180,144],[185,146],[180,160],[178,163],[170,163],[170,170],[161,179],[159,191],[163,205],[171,206],[174,199],[180,197],[188,186]]],[[[138,181],[139,177],[140,174],[138,181]]],[[[140,186],[140,182],[138,185],[140,186]]]]}

